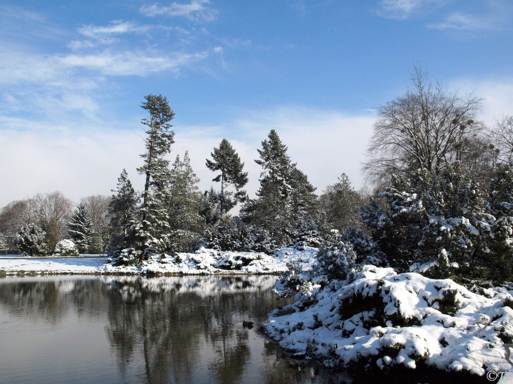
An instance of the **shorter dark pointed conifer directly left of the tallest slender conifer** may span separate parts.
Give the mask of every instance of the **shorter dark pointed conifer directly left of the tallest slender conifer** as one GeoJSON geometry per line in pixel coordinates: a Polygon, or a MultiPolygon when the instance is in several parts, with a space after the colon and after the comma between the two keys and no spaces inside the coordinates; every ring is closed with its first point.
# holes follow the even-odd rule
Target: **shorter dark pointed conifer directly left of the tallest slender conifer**
{"type": "Polygon", "coordinates": [[[110,216],[109,228],[112,238],[112,246],[117,245],[119,241],[127,234],[130,222],[135,220],[139,196],[135,193],[132,183],[128,179],[125,169],[121,171],[117,178],[117,187],[112,189],[115,195],[112,195],[108,206],[110,216]]]}

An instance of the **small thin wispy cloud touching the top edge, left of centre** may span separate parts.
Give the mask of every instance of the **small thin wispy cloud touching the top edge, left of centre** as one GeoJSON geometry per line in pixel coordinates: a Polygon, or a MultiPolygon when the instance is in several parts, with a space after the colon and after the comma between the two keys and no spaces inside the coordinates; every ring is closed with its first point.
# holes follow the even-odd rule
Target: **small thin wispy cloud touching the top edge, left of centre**
{"type": "Polygon", "coordinates": [[[215,20],[218,10],[208,7],[208,0],[192,0],[188,4],[171,3],[168,6],[159,6],[155,3],[152,5],[143,5],[140,12],[145,16],[185,16],[193,21],[209,22],[215,20]]]}

